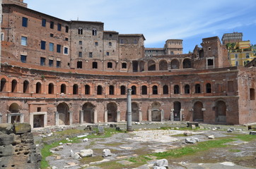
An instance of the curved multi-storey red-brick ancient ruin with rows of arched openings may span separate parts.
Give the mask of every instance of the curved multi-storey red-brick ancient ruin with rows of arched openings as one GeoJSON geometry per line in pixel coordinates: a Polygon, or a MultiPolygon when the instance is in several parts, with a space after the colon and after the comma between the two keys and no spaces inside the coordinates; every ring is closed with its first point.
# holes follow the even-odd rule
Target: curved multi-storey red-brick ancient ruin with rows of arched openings
{"type": "Polygon", "coordinates": [[[202,39],[191,54],[169,39],[162,55],[145,56],[142,34],[62,20],[23,0],[2,7],[0,123],[126,121],[129,88],[132,121],[256,122],[256,69],[231,66],[219,37],[202,39]]]}

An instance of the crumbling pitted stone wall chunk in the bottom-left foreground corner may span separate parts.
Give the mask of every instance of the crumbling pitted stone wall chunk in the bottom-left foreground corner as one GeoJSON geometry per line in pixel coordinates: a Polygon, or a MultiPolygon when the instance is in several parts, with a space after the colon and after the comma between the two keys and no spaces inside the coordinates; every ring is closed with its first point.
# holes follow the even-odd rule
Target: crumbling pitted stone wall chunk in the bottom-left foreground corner
{"type": "Polygon", "coordinates": [[[30,131],[27,123],[0,124],[0,168],[40,168],[41,156],[30,131]]]}

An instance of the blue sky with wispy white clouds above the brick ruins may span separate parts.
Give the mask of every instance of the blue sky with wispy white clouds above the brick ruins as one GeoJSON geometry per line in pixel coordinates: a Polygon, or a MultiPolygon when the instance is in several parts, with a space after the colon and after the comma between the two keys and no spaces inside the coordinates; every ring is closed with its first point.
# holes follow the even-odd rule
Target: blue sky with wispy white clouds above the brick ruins
{"type": "Polygon", "coordinates": [[[28,8],[63,20],[100,21],[105,30],[144,34],[145,47],[183,39],[184,53],[202,38],[243,32],[256,44],[255,0],[24,0],[28,8]]]}

